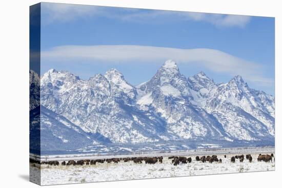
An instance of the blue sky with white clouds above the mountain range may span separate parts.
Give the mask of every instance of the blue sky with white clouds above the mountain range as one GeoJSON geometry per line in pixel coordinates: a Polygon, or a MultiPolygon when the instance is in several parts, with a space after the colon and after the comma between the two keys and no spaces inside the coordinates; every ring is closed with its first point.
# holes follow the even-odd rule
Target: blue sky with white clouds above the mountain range
{"type": "Polygon", "coordinates": [[[137,85],[165,60],[216,82],[239,74],[274,95],[274,18],[179,11],[42,4],[42,73],[68,70],[88,79],[110,68],[137,85]]]}

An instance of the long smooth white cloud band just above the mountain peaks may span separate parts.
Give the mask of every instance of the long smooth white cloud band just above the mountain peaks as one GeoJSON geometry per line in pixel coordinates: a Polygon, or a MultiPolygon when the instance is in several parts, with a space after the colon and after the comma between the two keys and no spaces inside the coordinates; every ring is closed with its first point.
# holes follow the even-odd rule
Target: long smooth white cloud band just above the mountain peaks
{"type": "Polygon", "coordinates": [[[210,71],[241,75],[247,81],[269,85],[273,80],[263,75],[264,67],[228,53],[213,49],[177,49],[152,46],[102,45],[58,46],[41,54],[43,61],[77,62],[93,64],[101,61],[108,64],[132,64],[134,62],[164,62],[173,59],[178,64],[197,64],[210,71]]]}

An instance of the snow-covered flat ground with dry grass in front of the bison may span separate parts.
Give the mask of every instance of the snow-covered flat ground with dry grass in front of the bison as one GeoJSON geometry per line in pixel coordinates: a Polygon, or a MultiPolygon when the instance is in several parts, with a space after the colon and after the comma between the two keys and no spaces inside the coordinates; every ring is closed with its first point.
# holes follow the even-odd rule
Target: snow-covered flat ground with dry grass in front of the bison
{"type": "MultiPolygon", "coordinates": [[[[274,153],[274,151],[272,152],[274,153]]],[[[41,184],[66,184],[66,183],[84,183],[98,181],[114,181],[114,180],[130,180],[130,179],[145,179],[145,178],[164,178],[164,177],[179,177],[179,176],[196,176],[208,174],[226,174],[226,173],[242,173],[242,172],[258,172],[258,171],[274,171],[275,163],[273,162],[258,162],[258,153],[243,153],[251,154],[253,162],[248,160],[239,162],[236,159],[235,163],[230,162],[230,158],[237,154],[226,153],[216,154],[218,159],[222,159],[222,163],[202,163],[196,161],[196,155],[192,157],[192,162],[174,166],[171,159],[164,157],[163,164],[135,164],[133,161],[114,163],[97,163],[96,165],[84,166],[49,166],[41,165],[41,184]]],[[[241,153],[238,153],[241,154],[241,153]]],[[[262,154],[270,154],[262,153],[262,154]]],[[[184,155],[185,156],[185,155],[184,155]]],[[[60,161],[61,163],[61,161],[60,161]]],[[[31,166],[30,178],[36,179],[38,168],[31,166]]]]}

